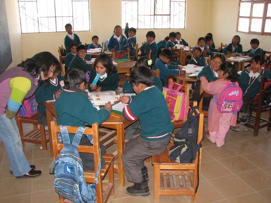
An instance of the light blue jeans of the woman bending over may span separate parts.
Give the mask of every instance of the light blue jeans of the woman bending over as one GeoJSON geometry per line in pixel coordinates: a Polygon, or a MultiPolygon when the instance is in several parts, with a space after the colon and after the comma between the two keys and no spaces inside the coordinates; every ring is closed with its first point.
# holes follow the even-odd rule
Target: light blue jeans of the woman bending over
{"type": "Polygon", "coordinates": [[[10,170],[15,176],[21,176],[31,170],[23,151],[23,145],[15,117],[9,119],[6,114],[0,115],[0,139],[4,142],[10,170]]]}

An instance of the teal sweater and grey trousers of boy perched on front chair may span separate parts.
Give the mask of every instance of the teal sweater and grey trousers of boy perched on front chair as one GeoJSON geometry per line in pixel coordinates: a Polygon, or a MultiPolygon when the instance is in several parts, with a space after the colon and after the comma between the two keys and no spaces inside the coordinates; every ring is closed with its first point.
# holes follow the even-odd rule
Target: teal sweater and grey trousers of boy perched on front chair
{"type": "Polygon", "coordinates": [[[140,120],[141,135],[126,143],[121,159],[127,180],[143,182],[144,160],[167,148],[174,129],[164,95],[155,86],[147,87],[129,99],[129,104],[123,108],[123,117],[130,121],[140,120]]]}

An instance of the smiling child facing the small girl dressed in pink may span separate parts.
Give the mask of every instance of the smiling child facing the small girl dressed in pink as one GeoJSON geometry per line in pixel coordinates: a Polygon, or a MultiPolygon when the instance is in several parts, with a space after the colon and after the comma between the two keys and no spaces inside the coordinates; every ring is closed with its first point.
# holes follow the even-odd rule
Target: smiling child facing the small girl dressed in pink
{"type": "Polygon", "coordinates": [[[221,54],[214,55],[211,65],[205,66],[198,74],[198,78],[205,76],[208,81],[216,81],[218,78],[218,71],[222,63],[225,62],[225,57],[221,54]]]}

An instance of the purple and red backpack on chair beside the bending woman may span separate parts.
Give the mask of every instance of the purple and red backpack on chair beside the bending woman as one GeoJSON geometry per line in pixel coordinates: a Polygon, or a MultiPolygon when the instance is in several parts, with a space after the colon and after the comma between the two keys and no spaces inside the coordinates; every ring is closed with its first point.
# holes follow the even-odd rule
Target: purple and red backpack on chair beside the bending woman
{"type": "Polygon", "coordinates": [[[35,99],[35,95],[32,95],[28,99],[24,100],[22,106],[19,109],[18,115],[26,117],[26,118],[30,118],[36,113],[38,113],[38,110],[36,107],[36,99],[35,99]]]}

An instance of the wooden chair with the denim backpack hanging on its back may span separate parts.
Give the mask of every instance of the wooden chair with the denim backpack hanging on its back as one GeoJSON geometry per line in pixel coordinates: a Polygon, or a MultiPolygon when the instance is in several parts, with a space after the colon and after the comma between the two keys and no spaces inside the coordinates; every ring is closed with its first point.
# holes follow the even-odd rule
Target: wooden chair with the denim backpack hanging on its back
{"type": "MultiPolygon", "coordinates": [[[[69,133],[75,133],[78,127],[67,127],[69,133]]],[[[52,130],[52,142],[53,142],[53,152],[54,158],[56,159],[60,150],[64,147],[63,143],[59,143],[58,133],[60,132],[60,127],[56,124],[56,121],[51,121],[51,130],[52,130]]],[[[99,131],[98,124],[93,123],[92,128],[86,128],[84,134],[93,136],[93,146],[78,146],[79,152],[93,153],[94,155],[94,170],[84,171],[84,176],[87,183],[93,183],[95,179],[95,173],[99,163],[99,154],[100,154],[100,144],[99,144],[99,131]]],[[[113,174],[113,154],[104,154],[102,156],[105,160],[106,165],[101,168],[98,175],[98,183],[96,185],[96,197],[97,202],[107,202],[109,195],[114,194],[114,174],[113,174]],[[108,182],[102,181],[108,172],[108,182]]],[[[65,202],[64,197],[59,196],[60,202],[65,202]]]]}

